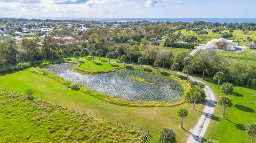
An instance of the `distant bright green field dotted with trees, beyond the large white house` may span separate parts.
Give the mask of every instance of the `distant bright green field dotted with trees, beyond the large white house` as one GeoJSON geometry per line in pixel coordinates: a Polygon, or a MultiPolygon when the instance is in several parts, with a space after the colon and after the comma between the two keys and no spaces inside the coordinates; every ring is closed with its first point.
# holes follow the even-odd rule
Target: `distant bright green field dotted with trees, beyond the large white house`
{"type": "MultiPolygon", "coordinates": [[[[179,30],[179,31],[181,31],[181,33],[184,34],[184,35],[198,36],[193,31],[186,32],[186,29],[182,29],[182,30],[179,30]]],[[[207,35],[207,38],[205,38],[203,41],[201,41],[202,44],[206,44],[207,41],[211,41],[212,39],[221,38],[221,34],[219,34],[219,33],[212,33],[211,30],[209,30],[209,29],[206,29],[206,31],[208,31],[209,34],[207,35]]],[[[229,32],[229,30],[223,30],[223,32],[229,32]]],[[[178,31],[176,31],[175,33],[178,33],[178,31]]],[[[237,38],[238,41],[240,41],[239,46],[246,46],[247,45],[247,42],[243,41],[243,39],[244,38],[246,39],[246,37],[248,37],[248,36],[251,37],[253,40],[256,39],[256,32],[248,32],[247,35],[245,35],[243,33],[243,30],[234,30],[234,32],[232,34],[233,34],[233,37],[231,38],[231,40],[236,41],[236,38],[237,38]]]]}

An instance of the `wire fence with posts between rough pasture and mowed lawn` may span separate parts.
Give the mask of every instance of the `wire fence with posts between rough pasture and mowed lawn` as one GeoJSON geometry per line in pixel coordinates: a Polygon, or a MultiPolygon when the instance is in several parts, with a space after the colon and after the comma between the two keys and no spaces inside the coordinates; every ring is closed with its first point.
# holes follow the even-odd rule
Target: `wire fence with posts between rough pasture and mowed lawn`
{"type": "MultiPolygon", "coordinates": [[[[13,91],[13,90],[6,89],[6,88],[3,88],[3,87],[1,87],[1,90],[2,91],[12,92],[14,94],[17,94],[17,95],[20,95],[20,96],[23,96],[23,97],[27,97],[25,94],[22,94],[21,92],[13,91]]],[[[93,116],[93,117],[95,117],[97,119],[100,119],[100,120],[102,120],[104,122],[108,122],[110,124],[114,124],[114,125],[117,125],[117,126],[121,126],[121,127],[127,128],[127,129],[135,130],[135,131],[138,131],[138,132],[142,132],[142,133],[144,133],[146,135],[145,138],[143,139],[143,141],[145,141],[145,142],[149,142],[150,139],[152,138],[152,136],[150,135],[150,132],[149,132],[148,129],[145,129],[145,128],[142,128],[142,127],[138,127],[137,125],[134,125],[134,124],[120,122],[120,121],[118,121],[116,119],[110,119],[109,117],[105,117],[105,116],[98,115],[98,114],[93,114],[93,113],[91,113],[89,111],[84,111],[84,110],[79,110],[79,109],[74,110],[73,108],[68,108],[67,106],[63,106],[61,104],[53,103],[53,102],[44,100],[42,98],[33,98],[33,100],[50,103],[50,104],[52,104],[54,106],[61,107],[62,109],[65,109],[65,110],[69,110],[69,111],[71,110],[71,111],[75,111],[75,112],[77,112],[79,114],[90,115],[90,116],[93,116]]]]}

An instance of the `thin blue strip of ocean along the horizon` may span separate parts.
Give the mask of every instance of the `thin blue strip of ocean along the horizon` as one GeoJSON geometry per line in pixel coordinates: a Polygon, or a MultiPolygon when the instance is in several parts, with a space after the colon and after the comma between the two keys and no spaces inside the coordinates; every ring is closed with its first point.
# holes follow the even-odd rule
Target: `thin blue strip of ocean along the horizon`
{"type": "Polygon", "coordinates": [[[82,21],[106,21],[106,22],[126,22],[126,21],[170,21],[170,22],[194,22],[194,21],[205,21],[205,22],[219,22],[219,23],[256,23],[255,19],[243,19],[243,18],[25,18],[25,19],[51,19],[51,20],[82,20],[82,21]]]}

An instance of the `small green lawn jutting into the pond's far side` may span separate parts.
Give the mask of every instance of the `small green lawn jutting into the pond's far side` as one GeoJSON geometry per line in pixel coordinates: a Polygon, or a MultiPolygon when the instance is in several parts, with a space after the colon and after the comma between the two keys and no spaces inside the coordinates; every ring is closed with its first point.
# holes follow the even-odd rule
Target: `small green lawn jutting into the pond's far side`
{"type": "Polygon", "coordinates": [[[79,68],[86,71],[106,71],[111,70],[113,68],[124,67],[123,64],[109,64],[108,62],[91,62],[91,61],[83,61],[84,63],[79,66],[79,68]]]}

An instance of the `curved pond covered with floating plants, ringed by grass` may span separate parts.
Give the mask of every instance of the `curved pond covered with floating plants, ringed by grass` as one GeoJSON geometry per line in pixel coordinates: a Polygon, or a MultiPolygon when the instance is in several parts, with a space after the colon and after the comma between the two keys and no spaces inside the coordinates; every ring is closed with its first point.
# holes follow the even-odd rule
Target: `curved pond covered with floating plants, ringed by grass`
{"type": "Polygon", "coordinates": [[[65,80],[79,82],[89,89],[126,100],[172,102],[183,95],[179,83],[159,75],[126,69],[83,75],[74,72],[74,66],[70,63],[52,64],[48,70],[65,80]],[[132,77],[142,78],[153,84],[134,81],[132,77]]]}

